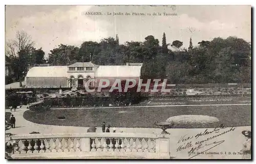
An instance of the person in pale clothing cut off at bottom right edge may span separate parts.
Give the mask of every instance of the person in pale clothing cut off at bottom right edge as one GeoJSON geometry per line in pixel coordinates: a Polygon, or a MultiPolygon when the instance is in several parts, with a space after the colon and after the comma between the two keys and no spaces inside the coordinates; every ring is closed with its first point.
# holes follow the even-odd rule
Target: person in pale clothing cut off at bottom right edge
{"type": "Polygon", "coordinates": [[[243,143],[242,159],[251,159],[251,131],[244,130],[242,134],[246,137],[246,141],[243,143]]]}

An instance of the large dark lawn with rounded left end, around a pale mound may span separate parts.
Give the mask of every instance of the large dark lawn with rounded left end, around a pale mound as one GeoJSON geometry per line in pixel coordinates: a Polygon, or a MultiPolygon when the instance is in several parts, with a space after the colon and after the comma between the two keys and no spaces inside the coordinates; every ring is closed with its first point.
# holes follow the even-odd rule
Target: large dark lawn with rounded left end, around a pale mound
{"type": "Polygon", "coordinates": [[[251,105],[52,109],[41,113],[27,110],[24,112],[24,118],[47,125],[99,127],[105,121],[112,127],[156,128],[155,121],[163,122],[170,116],[185,114],[214,116],[220,122],[204,125],[175,125],[174,128],[213,128],[220,124],[225,127],[251,125],[251,105]],[[65,116],[66,120],[58,120],[58,116],[65,116]]]}

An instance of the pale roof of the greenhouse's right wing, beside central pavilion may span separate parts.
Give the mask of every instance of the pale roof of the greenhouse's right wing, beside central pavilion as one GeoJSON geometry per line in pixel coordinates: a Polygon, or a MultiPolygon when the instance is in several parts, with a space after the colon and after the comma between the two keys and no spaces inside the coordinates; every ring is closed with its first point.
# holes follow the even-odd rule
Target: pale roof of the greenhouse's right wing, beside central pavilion
{"type": "Polygon", "coordinates": [[[140,77],[140,69],[141,65],[99,65],[95,77],[140,77]]]}

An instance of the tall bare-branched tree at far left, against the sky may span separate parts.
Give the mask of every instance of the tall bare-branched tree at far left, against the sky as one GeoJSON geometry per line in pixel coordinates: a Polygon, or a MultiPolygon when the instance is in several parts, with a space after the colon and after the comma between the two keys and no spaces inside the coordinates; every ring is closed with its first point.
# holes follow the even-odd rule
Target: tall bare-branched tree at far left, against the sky
{"type": "Polygon", "coordinates": [[[14,76],[22,86],[22,78],[28,71],[28,58],[32,53],[34,41],[25,31],[17,31],[15,39],[7,42],[6,54],[11,59],[14,76]]]}

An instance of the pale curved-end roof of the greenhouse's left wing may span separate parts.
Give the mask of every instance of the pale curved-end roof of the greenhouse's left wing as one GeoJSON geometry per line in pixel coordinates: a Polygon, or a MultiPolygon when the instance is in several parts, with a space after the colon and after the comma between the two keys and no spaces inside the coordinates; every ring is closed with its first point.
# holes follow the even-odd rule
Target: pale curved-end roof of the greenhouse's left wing
{"type": "Polygon", "coordinates": [[[34,66],[26,77],[67,77],[67,66],[34,66]]]}

